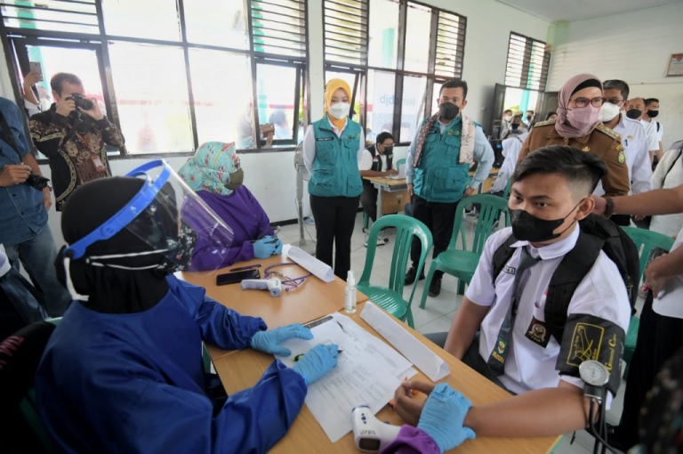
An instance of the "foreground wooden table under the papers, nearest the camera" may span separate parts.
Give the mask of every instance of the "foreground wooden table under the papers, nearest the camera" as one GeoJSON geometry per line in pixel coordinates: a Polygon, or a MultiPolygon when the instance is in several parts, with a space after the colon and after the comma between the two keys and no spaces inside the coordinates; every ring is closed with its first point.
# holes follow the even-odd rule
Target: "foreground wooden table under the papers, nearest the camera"
{"type": "MultiPolygon", "coordinates": [[[[366,328],[374,336],[379,336],[373,328],[370,328],[364,320],[360,318],[360,312],[364,304],[358,304],[358,312],[351,315],[351,318],[366,328]]],[[[301,320],[308,321],[308,320],[301,320]]],[[[456,360],[452,355],[446,353],[441,348],[428,341],[424,336],[412,328],[406,329],[420,339],[425,345],[443,358],[451,368],[451,374],[441,381],[446,381],[454,389],[462,391],[472,401],[473,405],[482,405],[494,401],[502,401],[510,398],[502,388],[494,385],[485,377],[465,366],[462,361],[456,360]]],[[[272,363],[273,357],[269,354],[256,352],[254,350],[242,350],[229,355],[222,355],[218,360],[213,361],[213,366],[221,377],[223,386],[229,394],[252,387],[272,363]]],[[[420,372],[415,378],[430,381],[420,372]]],[[[361,402],[358,402],[361,403],[361,402]]],[[[349,418],[351,416],[349,415],[349,418]]],[[[391,424],[402,424],[396,413],[385,407],[377,417],[382,421],[389,421],[391,424]]],[[[486,453],[504,452],[506,454],[534,454],[547,453],[552,450],[560,437],[545,438],[486,438],[477,437],[475,440],[464,442],[461,446],[452,450],[457,453],[486,453]]],[[[306,405],[301,409],[301,413],[294,420],[293,426],[285,437],[278,442],[269,452],[273,453],[349,453],[358,452],[353,442],[353,434],[346,434],[342,440],[336,443],[330,442],[323,429],[317,424],[306,405]]]]}

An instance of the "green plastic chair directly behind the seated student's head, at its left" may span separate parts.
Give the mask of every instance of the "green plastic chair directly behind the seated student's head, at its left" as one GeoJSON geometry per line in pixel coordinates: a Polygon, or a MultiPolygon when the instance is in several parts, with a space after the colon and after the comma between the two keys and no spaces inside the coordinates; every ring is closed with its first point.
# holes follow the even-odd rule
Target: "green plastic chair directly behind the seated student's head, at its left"
{"type": "Polygon", "coordinates": [[[505,215],[505,225],[509,226],[510,212],[508,211],[508,201],[492,194],[477,194],[462,199],[458,203],[458,207],[455,209],[455,223],[451,242],[444,252],[431,261],[430,272],[427,273],[427,279],[422,290],[421,309],[424,309],[431,279],[436,271],[446,272],[458,278],[460,280],[458,282],[458,295],[465,293],[465,284],[469,284],[472,276],[474,276],[486,239],[494,231],[494,223],[500,220],[502,214],[505,215]],[[479,204],[479,215],[474,230],[474,239],[471,246],[468,247],[462,217],[465,207],[475,203],[479,204]],[[458,234],[461,236],[461,247],[456,247],[458,234]]]}

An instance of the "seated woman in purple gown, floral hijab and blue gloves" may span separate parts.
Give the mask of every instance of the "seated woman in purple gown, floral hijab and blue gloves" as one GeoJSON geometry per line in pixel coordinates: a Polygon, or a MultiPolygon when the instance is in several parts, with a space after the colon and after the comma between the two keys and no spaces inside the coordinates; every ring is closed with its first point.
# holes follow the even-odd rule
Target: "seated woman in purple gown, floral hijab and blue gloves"
{"type": "Polygon", "coordinates": [[[232,243],[224,254],[215,254],[210,239],[199,236],[191,270],[215,270],[282,252],[282,240],[275,236],[268,215],[242,183],[245,171],[235,142],[206,142],[178,174],[233,233],[232,243]]]}

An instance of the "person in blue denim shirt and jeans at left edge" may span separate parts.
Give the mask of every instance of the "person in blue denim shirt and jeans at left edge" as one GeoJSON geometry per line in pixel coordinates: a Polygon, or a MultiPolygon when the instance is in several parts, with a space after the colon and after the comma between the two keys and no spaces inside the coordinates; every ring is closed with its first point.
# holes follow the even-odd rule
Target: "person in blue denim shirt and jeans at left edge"
{"type": "Polygon", "coordinates": [[[47,178],[31,154],[17,105],[0,98],[0,243],[12,267],[20,263],[44,296],[45,310],[60,317],[71,302],[54,268],[57,247],[47,224],[52,201],[47,178]]]}

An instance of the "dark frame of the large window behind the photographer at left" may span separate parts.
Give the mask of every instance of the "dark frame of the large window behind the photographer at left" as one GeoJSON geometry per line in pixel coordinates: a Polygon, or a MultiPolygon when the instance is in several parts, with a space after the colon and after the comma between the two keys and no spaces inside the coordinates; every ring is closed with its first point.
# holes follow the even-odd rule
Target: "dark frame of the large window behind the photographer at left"
{"type": "MultiPolygon", "coordinates": [[[[257,0],[261,3],[264,0],[257,0]]],[[[104,98],[104,103],[109,114],[109,120],[116,125],[119,129],[121,128],[118,109],[117,109],[117,95],[114,90],[113,76],[111,70],[111,61],[109,60],[109,42],[124,42],[129,44],[143,44],[143,45],[159,45],[159,46],[173,46],[180,47],[183,53],[183,59],[185,63],[186,80],[187,86],[178,87],[179,90],[185,89],[188,93],[189,100],[189,127],[192,133],[193,150],[187,151],[155,151],[155,152],[142,152],[142,153],[130,153],[125,149],[125,146],[121,147],[117,154],[109,154],[109,158],[153,158],[158,156],[164,157],[186,157],[192,156],[199,146],[198,136],[197,136],[197,116],[195,111],[195,95],[192,88],[192,71],[190,68],[190,49],[207,49],[237,55],[244,55],[249,59],[251,65],[251,76],[252,76],[252,101],[253,106],[258,105],[258,93],[257,93],[257,69],[260,64],[268,65],[282,65],[296,70],[296,83],[295,83],[295,93],[293,93],[293,105],[294,111],[296,112],[296,117],[298,118],[299,112],[301,110],[301,100],[304,102],[303,118],[304,123],[308,124],[307,119],[309,118],[309,28],[307,26],[307,21],[309,17],[309,5],[306,0],[292,0],[296,4],[302,6],[303,13],[303,26],[302,26],[302,53],[301,56],[287,56],[287,55],[277,55],[274,53],[262,53],[254,50],[254,33],[253,33],[253,2],[252,0],[244,0],[244,19],[245,19],[245,33],[247,33],[248,46],[246,49],[237,49],[229,46],[221,45],[205,45],[190,43],[188,41],[188,28],[186,26],[185,19],[185,8],[184,2],[189,2],[189,0],[176,0],[176,13],[178,26],[180,28],[180,37],[178,41],[169,41],[165,39],[152,39],[152,38],[141,38],[137,36],[118,36],[118,35],[108,35],[105,33],[105,22],[104,22],[104,12],[102,8],[102,0],[94,0],[94,5],[96,9],[97,17],[97,32],[92,34],[76,33],[69,31],[57,31],[49,29],[40,28],[15,28],[8,27],[5,25],[5,18],[7,17],[2,10],[0,10],[0,40],[4,48],[5,61],[7,68],[10,69],[10,79],[12,84],[12,91],[14,93],[15,101],[19,106],[23,106],[23,96],[21,93],[21,80],[24,71],[22,69],[28,70],[28,51],[27,45],[52,45],[56,47],[73,47],[82,48],[88,50],[94,50],[98,61],[98,70],[100,72],[100,81],[102,86],[102,95],[104,98]]],[[[277,3],[268,2],[277,5],[277,3]]],[[[14,6],[14,5],[9,5],[14,6]]],[[[25,8],[25,6],[19,5],[20,8],[25,8]]],[[[35,6],[26,6],[26,8],[33,8],[35,6]]],[[[13,16],[12,16],[13,17],[13,16]]],[[[68,28],[68,24],[64,27],[68,28]]],[[[94,31],[94,30],[93,30],[94,31]]],[[[253,134],[257,134],[259,131],[259,115],[258,109],[253,109],[253,134]]],[[[28,123],[28,122],[27,122],[28,123]]],[[[290,139],[280,139],[274,140],[273,145],[281,145],[271,148],[265,148],[265,140],[257,140],[254,142],[255,147],[251,149],[240,149],[240,153],[253,153],[260,151],[291,151],[297,146],[298,140],[298,123],[293,125],[293,138],[290,139]]],[[[254,137],[255,138],[255,137],[254,137]]],[[[31,144],[32,148],[33,144],[31,144]]],[[[46,159],[39,159],[41,164],[47,162],[46,159]]]]}

